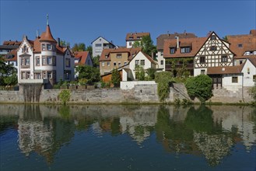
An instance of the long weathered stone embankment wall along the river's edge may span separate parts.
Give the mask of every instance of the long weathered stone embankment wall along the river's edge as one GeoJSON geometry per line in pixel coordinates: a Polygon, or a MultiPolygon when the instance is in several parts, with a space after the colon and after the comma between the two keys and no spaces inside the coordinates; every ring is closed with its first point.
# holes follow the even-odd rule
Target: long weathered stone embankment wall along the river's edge
{"type": "MultiPolygon", "coordinates": [[[[228,91],[213,89],[209,104],[249,104],[253,101],[248,93],[249,87],[243,91],[228,91]]],[[[168,98],[160,102],[157,95],[157,85],[136,85],[133,89],[70,89],[69,104],[174,104],[199,103],[191,99],[183,84],[174,83],[170,87],[168,98]]],[[[0,103],[61,103],[58,94],[61,89],[30,89],[19,88],[19,91],[0,91],[0,103]]]]}

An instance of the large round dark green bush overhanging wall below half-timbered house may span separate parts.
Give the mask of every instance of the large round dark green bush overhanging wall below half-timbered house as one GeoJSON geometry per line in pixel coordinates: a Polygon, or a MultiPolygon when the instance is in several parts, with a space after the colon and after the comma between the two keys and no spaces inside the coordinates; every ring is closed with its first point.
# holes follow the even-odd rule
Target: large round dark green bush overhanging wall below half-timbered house
{"type": "Polygon", "coordinates": [[[201,103],[212,97],[212,79],[208,75],[198,75],[188,78],[185,82],[188,95],[197,97],[201,103]]]}

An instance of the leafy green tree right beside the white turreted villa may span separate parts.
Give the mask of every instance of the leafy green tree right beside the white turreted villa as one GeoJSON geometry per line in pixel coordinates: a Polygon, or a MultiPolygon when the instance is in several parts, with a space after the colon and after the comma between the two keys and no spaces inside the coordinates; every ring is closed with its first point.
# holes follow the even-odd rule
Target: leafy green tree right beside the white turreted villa
{"type": "Polygon", "coordinates": [[[75,71],[79,73],[79,79],[87,79],[89,84],[100,81],[99,68],[93,68],[89,65],[79,65],[75,68],[75,71]]]}

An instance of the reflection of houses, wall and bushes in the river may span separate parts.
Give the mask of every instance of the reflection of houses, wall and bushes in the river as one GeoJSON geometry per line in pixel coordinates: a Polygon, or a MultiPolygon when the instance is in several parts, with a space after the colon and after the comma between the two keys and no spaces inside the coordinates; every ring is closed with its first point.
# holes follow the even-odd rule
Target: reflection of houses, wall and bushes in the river
{"type": "Polygon", "coordinates": [[[72,143],[76,131],[128,134],[139,145],[155,133],[167,152],[204,155],[210,166],[218,166],[237,142],[247,152],[256,143],[256,114],[249,106],[0,105],[0,110],[1,134],[18,127],[19,149],[27,156],[37,152],[47,163],[72,143]]]}

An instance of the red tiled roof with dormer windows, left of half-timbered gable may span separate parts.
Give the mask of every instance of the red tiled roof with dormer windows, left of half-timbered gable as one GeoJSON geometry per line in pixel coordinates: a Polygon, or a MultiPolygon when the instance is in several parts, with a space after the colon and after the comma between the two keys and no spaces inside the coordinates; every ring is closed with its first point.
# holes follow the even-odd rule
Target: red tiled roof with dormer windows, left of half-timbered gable
{"type": "MultiPolygon", "coordinates": [[[[174,47],[174,44],[177,44],[176,39],[164,40],[163,44],[163,57],[164,58],[189,58],[195,57],[199,49],[205,44],[205,41],[208,37],[193,37],[193,38],[183,38],[179,39],[179,48],[175,51],[174,54],[170,54],[170,47],[174,47]],[[190,53],[181,53],[181,47],[191,46],[190,53]]],[[[176,45],[177,46],[177,45],[176,45]]],[[[175,46],[175,47],[176,47],[175,46]]]]}

